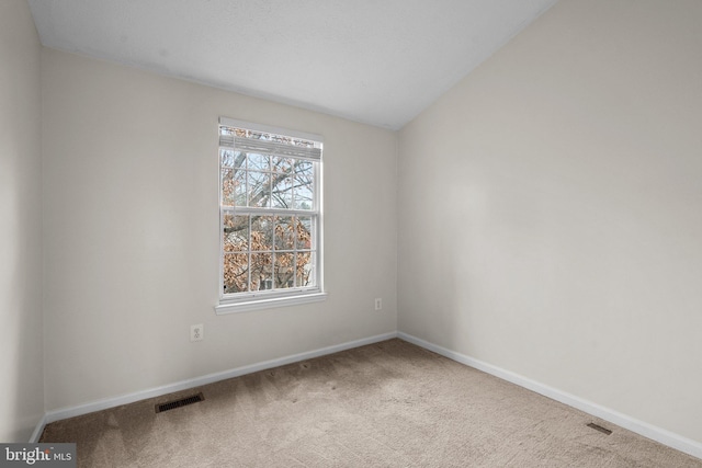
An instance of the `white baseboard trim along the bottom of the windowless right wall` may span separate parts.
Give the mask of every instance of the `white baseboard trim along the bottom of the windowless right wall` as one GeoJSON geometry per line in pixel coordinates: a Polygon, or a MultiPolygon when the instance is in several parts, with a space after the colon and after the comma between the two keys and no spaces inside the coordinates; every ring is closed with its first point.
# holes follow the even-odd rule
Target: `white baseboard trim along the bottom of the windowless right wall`
{"type": "Polygon", "coordinates": [[[688,455],[692,455],[693,457],[702,458],[702,443],[700,442],[692,441],[665,429],[657,427],[646,422],[636,420],[626,414],[620,413],[591,401],[584,400],[582,398],[558,390],[557,388],[540,384],[535,380],[494,366],[480,359],[466,356],[465,354],[456,353],[455,351],[448,350],[445,347],[421,340],[417,336],[398,332],[397,338],[421,346],[426,350],[433,351],[437,354],[441,354],[444,357],[456,361],[461,364],[465,364],[466,366],[483,370],[486,374],[499,377],[502,380],[507,380],[536,393],[543,395],[544,397],[548,397],[552,400],[556,400],[569,407],[576,408],[604,421],[609,421],[613,424],[619,425],[620,427],[624,427],[629,431],[635,432],[636,434],[643,435],[644,437],[648,437],[653,441],[676,448],[688,455]]]}

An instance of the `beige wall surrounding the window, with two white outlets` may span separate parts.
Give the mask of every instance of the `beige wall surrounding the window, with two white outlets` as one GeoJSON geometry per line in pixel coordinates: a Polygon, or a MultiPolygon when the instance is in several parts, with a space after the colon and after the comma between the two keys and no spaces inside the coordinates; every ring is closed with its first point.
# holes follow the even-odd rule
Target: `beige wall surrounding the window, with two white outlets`
{"type": "Polygon", "coordinates": [[[396,330],[394,133],[56,50],[42,66],[48,410],[396,330]],[[326,301],[215,316],[220,115],[324,136],[326,301]]]}

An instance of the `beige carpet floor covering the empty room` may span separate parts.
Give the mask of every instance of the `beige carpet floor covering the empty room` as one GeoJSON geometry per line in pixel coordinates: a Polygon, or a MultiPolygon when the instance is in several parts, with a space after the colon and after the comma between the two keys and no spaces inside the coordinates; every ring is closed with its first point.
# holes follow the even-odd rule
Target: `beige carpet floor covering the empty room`
{"type": "Polygon", "coordinates": [[[58,421],[42,442],[76,442],[80,467],[702,468],[400,340],[58,421]],[[155,412],[197,391],[204,401],[155,412]]]}

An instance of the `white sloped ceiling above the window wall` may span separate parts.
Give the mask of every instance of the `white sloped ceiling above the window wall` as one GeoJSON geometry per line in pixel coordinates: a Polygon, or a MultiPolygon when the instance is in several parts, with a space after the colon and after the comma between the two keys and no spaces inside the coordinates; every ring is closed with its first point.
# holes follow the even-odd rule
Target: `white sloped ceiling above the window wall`
{"type": "Polygon", "coordinates": [[[397,129],[557,0],[29,0],[42,44],[397,129]]]}

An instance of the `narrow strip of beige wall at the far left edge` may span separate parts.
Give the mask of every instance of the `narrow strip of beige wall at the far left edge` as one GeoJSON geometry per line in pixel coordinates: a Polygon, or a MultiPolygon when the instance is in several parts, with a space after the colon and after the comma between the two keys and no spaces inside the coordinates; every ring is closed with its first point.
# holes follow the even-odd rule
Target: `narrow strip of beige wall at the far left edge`
{"type": "Polygon", "coordinates": [[[44,414],[41,45],[23,0],[0,1],[0,441],[44,414]]]}

